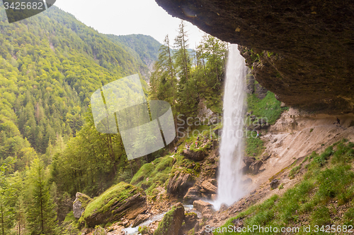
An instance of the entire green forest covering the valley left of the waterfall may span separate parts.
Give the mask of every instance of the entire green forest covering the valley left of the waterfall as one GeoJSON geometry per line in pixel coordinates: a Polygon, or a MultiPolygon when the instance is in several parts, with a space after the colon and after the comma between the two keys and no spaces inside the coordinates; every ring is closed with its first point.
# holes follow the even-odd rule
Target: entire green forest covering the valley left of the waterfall
{"type": "Polygon", "coordinates": [[[129,183],[169,150],[128,161],[119,133],[96,131],[90,97],[103,85],[137,73],[147,99],[169,102],[173,116],[195,117],[200,100],[222,112],[228,44],[205,35],[191,54],[183,21],[161,47],[143,35],[129,47],[131,37],[98,33],[55,6],[12,24],[1,11],[0,31],[3,235],[67,234],[76,192],[129,183]]]}

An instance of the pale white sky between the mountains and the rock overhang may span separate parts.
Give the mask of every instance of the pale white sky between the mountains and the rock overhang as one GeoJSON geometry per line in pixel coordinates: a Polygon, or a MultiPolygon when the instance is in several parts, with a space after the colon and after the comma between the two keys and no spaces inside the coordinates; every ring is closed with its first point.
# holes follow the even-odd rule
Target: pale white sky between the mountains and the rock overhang
{"type": "MultiPolygon", "coordinates": [[[[105,34],[150,35],[159,42],[168,34],[173,42],[179,18],[173,18],[154,0],[57,0],[55,6],[72,13],[76,19],[105,34]]],[[[204,32],[186,22],[190,48],[204,32]]]]}

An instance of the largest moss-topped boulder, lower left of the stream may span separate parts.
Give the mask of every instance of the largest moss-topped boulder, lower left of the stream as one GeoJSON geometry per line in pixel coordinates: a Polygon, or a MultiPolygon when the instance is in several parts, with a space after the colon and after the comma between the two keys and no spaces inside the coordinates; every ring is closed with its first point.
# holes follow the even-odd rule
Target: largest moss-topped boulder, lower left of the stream
{"type": "Polygon", "coordinates": [[[81,219],[88,227],[98,224],[135,219],[147,210],[147,197],[141,188],[120,182],[98,196],[87,205],[81,219]]]}

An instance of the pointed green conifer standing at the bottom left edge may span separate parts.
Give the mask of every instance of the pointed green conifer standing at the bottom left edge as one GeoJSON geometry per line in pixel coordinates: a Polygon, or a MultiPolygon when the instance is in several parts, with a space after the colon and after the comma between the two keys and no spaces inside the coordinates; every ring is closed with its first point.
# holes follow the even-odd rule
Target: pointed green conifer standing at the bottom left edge
{"type": "Polygon", "coordinates": [[[31,234],[56,234],[57,213],[50,197],[44,164],[35,159],[28,174],[28,223],[31,234]]]}

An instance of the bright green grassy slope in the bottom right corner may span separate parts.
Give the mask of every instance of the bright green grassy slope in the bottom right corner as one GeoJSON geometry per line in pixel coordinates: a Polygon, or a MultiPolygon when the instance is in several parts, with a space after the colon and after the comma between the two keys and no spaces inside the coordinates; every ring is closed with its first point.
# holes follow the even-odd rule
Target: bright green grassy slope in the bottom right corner
{"type": "MultiPolygon", "coordinates": [[[[333,202],[338,206],[346,204],[353,207],[354,202],[354,172],[353,143],[341,140],[328,147],[321,155],[313,152],[307,164],[304,180],[294,188],[288,189],[284,195],[273,195],[261,205],[253,205],[236,217],[230,218],[223,227],[232,224],[236,218],[244,218],[244,227],[253,225],[263,227],[292,227],[299,222],[299,217],[312,226],[326,224],[353,225],[353,209],[347,210],[343,218],[335,217],[333,202]]],[[[295,167],[292,174],[299,170],[295,167]]],[[[300,228],[299,231],[302,231],[300,228]]],[[[258,232],[258,231],[257,231],[258,232]]],[[[236,234],[233,232],[215,232],[215,234],[236,234]]],[[[237,233],[239,234],[239,233],[237,233]]],[[[252,233],[241,233],[252,234],[252,233]]],[[[258,233],[265,234],[265,233],[258,233]]],[[[268,233],[277,234],[277,233],[268,233]]],[[[300,234],[303,234],[300,232],[300,234]]]]}

